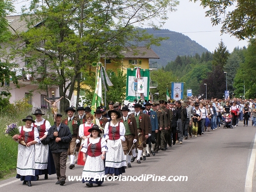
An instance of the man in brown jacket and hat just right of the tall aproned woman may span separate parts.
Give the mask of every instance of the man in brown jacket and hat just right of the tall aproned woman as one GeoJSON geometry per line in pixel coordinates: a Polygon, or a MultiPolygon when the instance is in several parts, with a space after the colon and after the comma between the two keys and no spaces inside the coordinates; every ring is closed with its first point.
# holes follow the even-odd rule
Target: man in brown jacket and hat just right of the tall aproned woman
{"type": "Polygon", "coordinates": [[[128,115],[130,109],[127,106],[122,107],[122,116],[120,122],[125,125],[125,141],[122,141],[125,158],[127,157],[127,166],[131,167],[131,148],[138,140],[137,123],[134,116],[128,115]]]}

